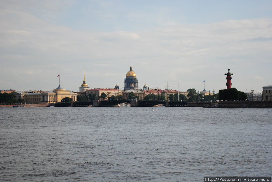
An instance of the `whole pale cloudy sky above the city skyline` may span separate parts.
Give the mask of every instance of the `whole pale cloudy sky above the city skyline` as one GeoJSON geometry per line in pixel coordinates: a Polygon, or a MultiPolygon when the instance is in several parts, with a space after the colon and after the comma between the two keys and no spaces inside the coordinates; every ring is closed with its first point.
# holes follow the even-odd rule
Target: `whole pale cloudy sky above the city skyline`
{"type": "Polygon", "coordinates": [[[0,89],[262,91],[272,84],[272,1],[1,0],[0,89]]]}

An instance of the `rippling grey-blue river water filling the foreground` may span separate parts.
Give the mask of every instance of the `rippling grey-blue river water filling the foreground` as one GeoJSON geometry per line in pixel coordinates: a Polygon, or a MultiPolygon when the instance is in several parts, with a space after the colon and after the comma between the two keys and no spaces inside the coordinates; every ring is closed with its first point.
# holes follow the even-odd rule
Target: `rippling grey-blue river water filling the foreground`
{"type": "Polygon", "coordinates": [[[0,108],[1,181],[271,176],[272,109],[0,108]]]}

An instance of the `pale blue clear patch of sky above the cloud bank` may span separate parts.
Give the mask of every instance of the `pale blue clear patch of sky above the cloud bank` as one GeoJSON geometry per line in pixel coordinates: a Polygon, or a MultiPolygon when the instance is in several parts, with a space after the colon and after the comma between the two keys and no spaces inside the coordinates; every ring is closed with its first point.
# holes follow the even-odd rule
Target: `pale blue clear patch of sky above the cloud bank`
{"type": "Polygon", "coordinates": [[[50,14],[47,11],[37,15],[80,31],[138,31],[176,24],[272,18],[272,1],[75,1],[62,6],[51,12],[53,17],[46,17],[50,14]]]}

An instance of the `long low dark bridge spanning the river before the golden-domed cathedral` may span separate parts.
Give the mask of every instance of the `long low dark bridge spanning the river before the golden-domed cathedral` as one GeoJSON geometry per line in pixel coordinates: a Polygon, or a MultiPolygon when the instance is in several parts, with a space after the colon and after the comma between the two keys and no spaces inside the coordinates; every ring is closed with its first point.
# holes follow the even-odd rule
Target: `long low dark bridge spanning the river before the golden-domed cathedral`
{"type": "Polygon", "coordinates": [[[188,102],[172,102],[172,101],[160,101],[160,100],[93,100],[86,102],[64,102],[56,103],[56,107],[110,107],[116,106],[120,103],[130,103],[131,107],[152,107],[156,105],[162,105],[166,107],[182,107],[186,106],[188,102]]]}

